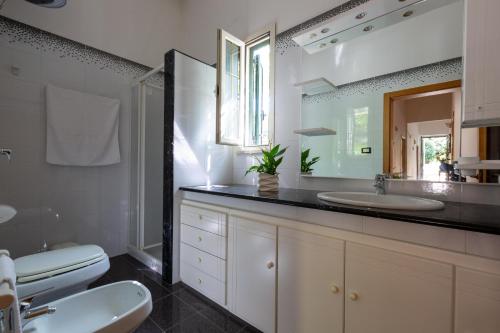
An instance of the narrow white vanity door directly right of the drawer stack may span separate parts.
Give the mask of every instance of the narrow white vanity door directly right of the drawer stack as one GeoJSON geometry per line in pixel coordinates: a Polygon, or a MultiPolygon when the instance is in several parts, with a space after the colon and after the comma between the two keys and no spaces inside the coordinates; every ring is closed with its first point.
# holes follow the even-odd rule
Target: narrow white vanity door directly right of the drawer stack
{"type": "Polygon", "coordinates": [[[276,227],[230,218],[232,311],[265,333],[275,331],[276,227]]]}

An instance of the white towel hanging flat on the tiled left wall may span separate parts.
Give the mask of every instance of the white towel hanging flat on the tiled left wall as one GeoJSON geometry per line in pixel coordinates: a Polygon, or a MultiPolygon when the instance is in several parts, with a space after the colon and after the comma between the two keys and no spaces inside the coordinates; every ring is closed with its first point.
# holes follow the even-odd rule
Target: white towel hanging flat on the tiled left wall
{"type": "Polygon", "coordinates": [[[120,101],[53,85],[46,87],[47,163],[100,166],[120,163],[120,101]]]}

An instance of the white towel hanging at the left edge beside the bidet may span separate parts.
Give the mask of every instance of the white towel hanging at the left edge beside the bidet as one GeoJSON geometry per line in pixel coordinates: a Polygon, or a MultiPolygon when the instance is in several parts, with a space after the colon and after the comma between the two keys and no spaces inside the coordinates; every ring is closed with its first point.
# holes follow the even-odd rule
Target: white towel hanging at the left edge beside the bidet
{"type": "Polygon", "coordinates": [[[7,313],[7,331],[22,333],[21,314],[16,291],[16,269],[9,252],[0,250],[0,310],[7,313]]]}

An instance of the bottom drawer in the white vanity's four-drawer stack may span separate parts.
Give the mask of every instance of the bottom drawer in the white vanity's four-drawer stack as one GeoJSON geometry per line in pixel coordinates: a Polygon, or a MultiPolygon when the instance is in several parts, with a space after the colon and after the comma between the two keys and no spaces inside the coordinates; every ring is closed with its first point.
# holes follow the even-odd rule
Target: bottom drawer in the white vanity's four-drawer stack
{"type": "Polygon", "coordinates": [[[193,289],[196,289],[214,302],[226,305],[226,284],[208,274],[181,262],[181,280],[193,289]]]}

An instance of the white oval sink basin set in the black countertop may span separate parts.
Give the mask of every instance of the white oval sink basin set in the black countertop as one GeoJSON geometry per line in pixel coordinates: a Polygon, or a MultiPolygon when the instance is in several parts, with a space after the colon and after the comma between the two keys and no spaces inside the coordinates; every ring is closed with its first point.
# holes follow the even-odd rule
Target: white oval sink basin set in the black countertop
{"type": "Polygon", "coordinates": [[[369,192],[324,192],[318,193],[318,198],[340,204],[371,208],[439,210],[444,207],[444,203],[437,200],[405,195],[376,194],[369,192]]]}

